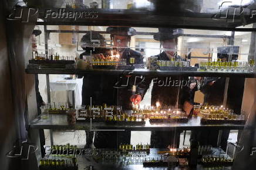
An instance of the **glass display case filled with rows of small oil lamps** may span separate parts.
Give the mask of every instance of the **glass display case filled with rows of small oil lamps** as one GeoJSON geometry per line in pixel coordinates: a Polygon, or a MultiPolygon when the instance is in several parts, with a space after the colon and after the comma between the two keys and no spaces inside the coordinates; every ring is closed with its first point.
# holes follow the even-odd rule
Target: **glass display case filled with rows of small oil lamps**
{"type": "Polygon", "coordinates": [[[42,99],[29,128],[49,135],[39,169],[255,165],[254,1],[28,5],[42,99]]]}

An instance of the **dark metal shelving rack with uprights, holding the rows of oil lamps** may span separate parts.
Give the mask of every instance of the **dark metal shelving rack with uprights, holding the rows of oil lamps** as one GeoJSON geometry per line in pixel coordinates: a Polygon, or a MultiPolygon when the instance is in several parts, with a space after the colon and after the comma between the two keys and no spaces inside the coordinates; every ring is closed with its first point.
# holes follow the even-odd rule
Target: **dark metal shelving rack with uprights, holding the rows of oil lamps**
{"type": "MultiPolygon", "coordinates": [[[[136,26],[136,27],[174,27],[174,28],[190,28],[190,29],[211,29],[211,30],[232,30],[233,33],[231,36],[227,36],[230,39],[229,45],[234,45],[234,31],[256,31],[256,29],[248,28],[236,28],[241,26],[241,19],[236,19],[233,23],[228,23],[225,21],[215,21],[211,18],[212,13],[183,13],[182,16],[174,15],[170,17],[169,15],[153,11],[138,11],[138,10],[119,10],[119,9],[86,9],[87,11],[97,11],[99,13],[99,18],[97,19],[79,19],[78,21],[72,21],[72,19],[45,19],[43,22],[37,22],[36,25],[43,25],[45,30],[45,52],[48,53],[48,38],[50,33],[86,33],[87,31],[82,30],[48,30],[47,25],[94,25],[94,26],[109,26],[109,25],[122,25],[122,26],[136,26]],[[199,22],[200,21],[200,22],[199,22]]],[[[40,11],[39,18],[44,18],[45,13],[40,11]]],[[[72,9],[72,11],[80,11],[79,9],[72,9]]],[[[174,12],[176,13],[176,12],[174,12]]],[[[174,14],[171,13],[171,14],[174,14]]],[[[249,20],[248,23],[254,22],[253,19],[249,20]]],[[[247,23],[247,24],[248,24],[247,23]]],[[[106,32],[99,32],[106,33],[106,32]]],[[[140,35],[153,35],[153,33],[137,32],[140,35]]],[[[191,37],[204,37],[204,38],[223,38],[220,35],[183,35],[191,37]]],[[[125,70],[62,70],[62,69],[40,69],[40,70],[31,70],[26,69],[28,74],[46,74],[46,85],[47,85],[47,94],[48,94],[48,103],[50,103],[50,88],[49,88],[49,74],[123,74],[125,70]]],[[[133,71],[133,74],[140,75],[176,75],[182,74],[184,76],[212,76],[212,77],[227,77],[225,84],[225,94],[224,94],[224,104],[225,99],[227,98],[227,88],[228,88],[228,77],[256,77],[255,73],[220,73],[220,72],[188,72],[188,71],[157,71],[152,72],[148,70],[136,69],[133,71]]],[[[36,76],[35,76],[36,77],[36,76]]],[[[52,115],[52,117],[47,121],[40,120],[36,118],[30,124],[31,128],[47,128],[50,129],[50,141],[53,145],[53,135],[52,130],[55,128],[63,129],[79,129],[79,128],[90,128],[89,123],[77,123],[76,127],[68,127],[66,123],[66,117],[61,115],[52,115]]],[[[97,128],[124,128],[126,130],[170,130],[172,128],[179,128],[181,130],[193,130],[198,128],[216,128],[221,134],[221,130],[224,129],[243,129],[244,125],[200,125],[197,121],[191,120],[192,122],[188,124],[177,124],[173,126],[166,127],[164,125],[145,125],[145,126],[133,126],[133,127],[122,127],[122,126],[110,126],[105,124],[95,124],[97,128]],[[193,124],[194,123],[194,124],[193,124]]],[[[219,135],[220,137],[220,135],[219,135]]]]}

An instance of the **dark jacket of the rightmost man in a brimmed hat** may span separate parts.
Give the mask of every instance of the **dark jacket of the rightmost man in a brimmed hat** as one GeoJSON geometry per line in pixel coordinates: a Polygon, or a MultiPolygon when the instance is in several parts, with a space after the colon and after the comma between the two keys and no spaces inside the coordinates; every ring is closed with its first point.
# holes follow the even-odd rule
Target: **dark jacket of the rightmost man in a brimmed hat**
{"type": "MultiPolygon", "coordinates": [[[[170,60],[165,52],[155,57],[157,57],[157,60],[170,60]]],[[[183,59],[176,55],[176,60],[183,59]]],[[[176,76],[146,76],[144,81],[137,86],[137,93],[142,95],[142,97],[144,97],[147,89],[149,89],[151,80],[153,80],[151,91],[152,106],[156,104],[156,101],[159,101],[161,105],[182,105],[185,98],[188,98],[188,77],[182,76],[182,72],[176,76]]]]}

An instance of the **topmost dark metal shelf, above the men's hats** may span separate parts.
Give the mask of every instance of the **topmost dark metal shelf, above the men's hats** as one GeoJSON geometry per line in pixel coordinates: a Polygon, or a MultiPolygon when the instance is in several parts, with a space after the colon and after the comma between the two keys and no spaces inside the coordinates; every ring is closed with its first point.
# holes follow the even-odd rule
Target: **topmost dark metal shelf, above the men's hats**
{"type": "Polygon", "coordinates": [[[240,15],[230,15],[226,18],[214,18],[217,13],[197,13],[181,11],[146,11],[136,9],[67,9],[72,12],[94,12],[94,18],[61,18],[46,17],[46,11],[58,12],[59,8],[39,9],[39,18],[43,22],[36,22],[36,25],[93,25],[93,26],[135,26],[135,27],[174,27],[188,29],[210,29],[210,30],[236,30],[236,31],[256,31],[256,29],[236,28],[250,23],[255,19],[250,18],[250,14],[243,17],[240,15]],[[234,18],[234,19],[233,19],[234,18]],[[232,22],[228,22],[232,19],[232,22]]]}

